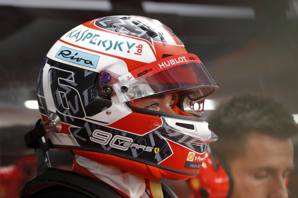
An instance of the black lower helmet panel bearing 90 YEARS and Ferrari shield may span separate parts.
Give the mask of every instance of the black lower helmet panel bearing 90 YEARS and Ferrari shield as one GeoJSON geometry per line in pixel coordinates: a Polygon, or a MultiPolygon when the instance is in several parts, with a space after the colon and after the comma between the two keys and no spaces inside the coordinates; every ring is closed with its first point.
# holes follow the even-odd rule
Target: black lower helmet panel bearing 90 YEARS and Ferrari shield
{"type": "Polygon", "coordinates": [[[108,153],[153,166],[173,153],[167,141],[155,133],[141,136],[86,121],[77,126],[81,128],[70,127],[70,132],[81,147],[93,152],[108,153]],[[160,150],[158,155],[154,148],[160,150]]]}

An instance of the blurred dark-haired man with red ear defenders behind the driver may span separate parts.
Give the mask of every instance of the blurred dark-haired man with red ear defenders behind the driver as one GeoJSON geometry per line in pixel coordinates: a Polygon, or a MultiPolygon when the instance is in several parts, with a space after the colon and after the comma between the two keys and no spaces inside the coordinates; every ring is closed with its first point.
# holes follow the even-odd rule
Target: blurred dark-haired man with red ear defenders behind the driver
{"type": "Polygon", "coordinates": [[[200,174],[188,180],[192,197],[288,197],[298,129],[285,106],[244,94],[220,104],[207,121],[218,141],[200,174]]]}

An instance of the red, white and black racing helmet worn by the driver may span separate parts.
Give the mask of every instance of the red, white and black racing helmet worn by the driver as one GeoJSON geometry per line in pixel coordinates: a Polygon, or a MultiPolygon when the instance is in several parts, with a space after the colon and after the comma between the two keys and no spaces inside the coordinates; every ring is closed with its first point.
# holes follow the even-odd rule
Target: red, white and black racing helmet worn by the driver
{"type": "Polygon", "coordinates": [[[217,139],[194,115],[217,89],[167,26],[109,16],[77,26],[52,46],[37,96],[54,147],[148,179],[188,179],[217,139]],[[175,94],[175,113],[137,105],[166,93],[175,94]]]}

